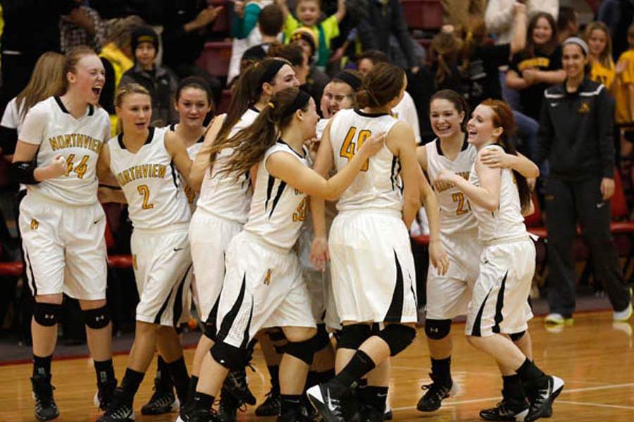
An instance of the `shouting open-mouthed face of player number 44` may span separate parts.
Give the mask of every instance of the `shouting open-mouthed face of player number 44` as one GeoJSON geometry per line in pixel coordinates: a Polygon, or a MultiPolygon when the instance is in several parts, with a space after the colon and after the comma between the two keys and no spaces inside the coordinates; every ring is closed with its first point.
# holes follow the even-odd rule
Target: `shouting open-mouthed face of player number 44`
{"type": "Polygon", "coordinates": [[[75,71],[66,75],[69,89],[73,89],[82,100],[97,105],[101,89],[106,83],[106,70],[99,57],[94,54],[82,56],[75,65],[75,71]]]}

